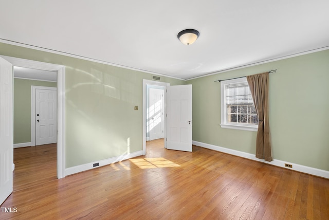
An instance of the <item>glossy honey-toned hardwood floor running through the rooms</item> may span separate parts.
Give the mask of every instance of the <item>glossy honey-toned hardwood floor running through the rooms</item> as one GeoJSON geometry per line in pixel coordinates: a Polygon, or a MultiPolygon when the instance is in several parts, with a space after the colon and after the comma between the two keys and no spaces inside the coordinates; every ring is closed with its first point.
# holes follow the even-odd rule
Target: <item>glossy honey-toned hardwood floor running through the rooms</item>
{"type": "Polygon", "coordinates": [[[1,207],[17,212],[0,219],[329,219],[329,179],[198,146],[155,140],[145,156],[60,180],[56,146],[14,150],[1,207]]]}

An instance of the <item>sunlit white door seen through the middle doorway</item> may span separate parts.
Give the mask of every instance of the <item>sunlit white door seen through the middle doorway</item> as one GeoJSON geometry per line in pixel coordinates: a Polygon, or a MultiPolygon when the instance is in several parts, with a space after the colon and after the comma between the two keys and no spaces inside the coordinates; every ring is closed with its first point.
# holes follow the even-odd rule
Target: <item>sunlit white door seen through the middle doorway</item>
{"type": "Polygon", "coordinates": [[[164,111],[164,95],[165,91],[158,88],[150,88],[149,90],[149,128],[150,140],[163,138],[165,136],[163,113],[164,111]]]}

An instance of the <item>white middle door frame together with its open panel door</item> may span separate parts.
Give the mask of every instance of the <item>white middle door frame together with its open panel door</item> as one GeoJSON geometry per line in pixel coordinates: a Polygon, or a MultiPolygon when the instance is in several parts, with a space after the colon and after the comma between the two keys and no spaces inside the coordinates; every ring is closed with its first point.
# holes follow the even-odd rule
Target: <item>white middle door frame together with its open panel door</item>
{"type": "Polygon", "coordinates": [[[162,86],[166,88],[164,93],[165,104],[165,148],[178,151],[192,152],[192,85],[175,85],[169,83],[143,80],[142,92],[142,152],[146,154],[147,140],[147,88],[148,86],[162,86]],[[168,91],[168,94],[167,94],[168,91]],[[167,117],[167,113],[168,117],[167,117]],[[168,130],[169,129],[169,130],[168,130]],[[168,130],[168,132],[167,132],[168,130]],[[168,145],[169,144],[169,145],[168,145]]]}

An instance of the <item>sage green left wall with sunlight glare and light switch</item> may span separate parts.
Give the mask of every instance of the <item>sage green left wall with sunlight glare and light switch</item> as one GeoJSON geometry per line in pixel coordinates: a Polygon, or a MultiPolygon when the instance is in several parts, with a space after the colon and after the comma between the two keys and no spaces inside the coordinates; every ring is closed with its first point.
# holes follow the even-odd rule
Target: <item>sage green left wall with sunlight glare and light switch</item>
{"type": "Polygon", "coordinates": [[[142,79],[151,74],[3,43],[0,54],[66,67],[66,168],[142,150],[142,79]]]}

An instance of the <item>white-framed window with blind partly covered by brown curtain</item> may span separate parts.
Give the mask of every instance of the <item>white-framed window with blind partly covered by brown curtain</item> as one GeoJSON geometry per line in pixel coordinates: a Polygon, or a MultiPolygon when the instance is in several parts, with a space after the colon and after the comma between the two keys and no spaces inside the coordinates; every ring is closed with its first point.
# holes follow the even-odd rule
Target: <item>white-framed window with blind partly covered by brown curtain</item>
{"type": "Polygon", "coordinates": [[[245,77],[221,82],[221,107],[221,127],[257,131],[257,112],[245,77]]]}

